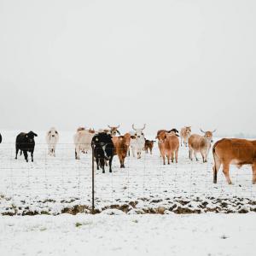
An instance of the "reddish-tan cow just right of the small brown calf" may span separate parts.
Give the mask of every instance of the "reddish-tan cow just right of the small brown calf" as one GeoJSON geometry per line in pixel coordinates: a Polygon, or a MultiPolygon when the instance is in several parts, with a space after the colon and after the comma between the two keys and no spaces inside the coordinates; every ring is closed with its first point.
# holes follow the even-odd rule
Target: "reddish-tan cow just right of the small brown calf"
{"type": "Polygon", "coordinates": [[[179,140],[175,132],[160,132],[158,146],[160,149],[161,157],[163,158],[164,165],[166,165],[166,157],[168,160],[168,165],[170,165],[170,159],[172,160],[173,163],[174,156],[177,163],[179,140]]]}

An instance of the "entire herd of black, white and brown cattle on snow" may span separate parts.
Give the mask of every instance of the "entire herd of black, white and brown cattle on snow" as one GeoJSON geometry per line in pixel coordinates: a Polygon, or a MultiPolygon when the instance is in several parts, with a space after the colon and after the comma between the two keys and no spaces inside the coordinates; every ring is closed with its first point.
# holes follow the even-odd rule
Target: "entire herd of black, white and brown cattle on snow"
{"type": "MultiPolygon", "coordinates": [[[[112,172],[112,160],[116,154],[119,158],[120,168],[125,168],[125,158],[131,154],[137,159],[142,157],[143,150],[152,154],[155,141],[148,140],[144,136],[144,129],[136,128],[132,125],[132,130],[120,135],[119,125],[109,126],[108,129],[95,131],[94,129],[85,129],[79,127],[73,137],[75,145],[75,159],[80,159],[81,153],[92,151],[96,160],[97,170],[102,168],[105,172],[105,166],[109,166],[109,172],[112,172]]],[[[186,126],[180,132],[177,129],[160,130],[157,132],[155,139],[158,139],[158,147],[163,164],[168,165],[170,161],[177,163],[178,150],[180,146],[189,148],[189,159],[198,161],[197,154],[200,153],[202,161],[207,162],[207,157],[212,146],[212,136],[214,131],[203,131],[202,135],[191,134],[191,127],[186,126]],[[180,137],[180,139],[179,139],[180,137]]],[[[33,131],[28,133],[21,132],[16,137],[15,142],[15,159],[17,155],[23,153],[25,160],[28,161],[28,153],[31,154],[33,161],[33,152],[35,148],[34,137],[38,137],[33,131]]],[[[55,156],[56,144],[59,141],[59,132],[55,128],[51,128],[46,134],[46,142],[49,146],[49,155],[55,156]]],[[[0,134],[0,143],[2,136],[0,134]]],[[[230,180],[230,165],[236,165],[241,168],[243,165],[251,165],[253,170],[253,184],[256,183],[256,141],[236,138],[224,138],[215,143],[212,147],[214,160],[213,166],[213,183],[217,183],[217,174],[220,166],[223,166],[224,176],[229,184],[230,180]]]]}

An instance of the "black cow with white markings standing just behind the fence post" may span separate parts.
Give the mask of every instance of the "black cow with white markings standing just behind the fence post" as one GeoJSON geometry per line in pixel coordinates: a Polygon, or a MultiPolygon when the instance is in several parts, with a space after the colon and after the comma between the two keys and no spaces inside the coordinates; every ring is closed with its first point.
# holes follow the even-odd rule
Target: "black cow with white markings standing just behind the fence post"
{"type": "Polygon", "coordinates": [[[109,172],[112,172],[111,167],[114,147],[111,135],[106,132],[96,134],[92,138],[91,148],[96,159],[97,170],[99,170],[99,166],[101,166],[102,173],[105,173],[105,161],[109,161],[109,172]]]}

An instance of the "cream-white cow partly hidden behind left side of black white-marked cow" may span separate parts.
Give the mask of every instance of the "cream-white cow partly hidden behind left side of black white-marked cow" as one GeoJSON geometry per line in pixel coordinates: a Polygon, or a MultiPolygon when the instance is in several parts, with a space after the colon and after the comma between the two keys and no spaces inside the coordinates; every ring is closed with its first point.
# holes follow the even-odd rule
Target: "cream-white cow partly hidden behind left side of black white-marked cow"
{"type": "Polygon", "coordinates": [[[94,137],[96,131],[94,130],[85,130],[84,127],[80,127],[77,130],[77,133],[73,137],[73,142],[75,144],[75,158],[80,159],[80,152],[88,153],[91,150],[91,140],[94,137]]]}

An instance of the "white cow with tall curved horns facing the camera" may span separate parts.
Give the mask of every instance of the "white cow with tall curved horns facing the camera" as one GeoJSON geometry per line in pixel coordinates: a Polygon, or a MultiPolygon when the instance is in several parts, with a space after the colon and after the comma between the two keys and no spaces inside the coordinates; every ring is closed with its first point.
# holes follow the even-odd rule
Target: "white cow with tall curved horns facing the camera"
{"type": "Polygon", "coordinates": [[[142,152],[145,144],[145,138],[143,130],[146,128],[146,125],[143,126],[142,129],[136,129],[134,125],[132,125],[132,129],[134,131],[131,131],[131,136],[134,136],[134,139],[131,139],[131,152],[132,156],[135,157],[135,154],[137,153],[137,159],[142,158],[142,152]]]}

